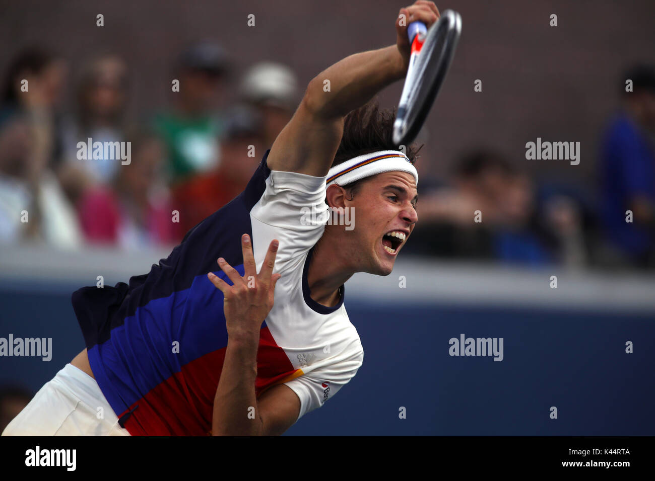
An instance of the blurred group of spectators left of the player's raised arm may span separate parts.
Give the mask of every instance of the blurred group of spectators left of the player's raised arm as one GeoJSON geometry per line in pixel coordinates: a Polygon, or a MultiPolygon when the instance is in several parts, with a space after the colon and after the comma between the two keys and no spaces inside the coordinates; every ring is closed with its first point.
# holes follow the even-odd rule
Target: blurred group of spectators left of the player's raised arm
{"type": "Polygon", "coordinates": [[[220,46],[191,46],[174,63],[171,105],[134,120],[132,73],[119,56],[92,58],[69,79],[47,50],[20,52],[0,105],[0,241],[179,243],[244,189],[299,102],[294,73],[262,62],[221,109],[231,69],[220,46]],[[106,147],[128,142],[127,160],[106,147]]]}

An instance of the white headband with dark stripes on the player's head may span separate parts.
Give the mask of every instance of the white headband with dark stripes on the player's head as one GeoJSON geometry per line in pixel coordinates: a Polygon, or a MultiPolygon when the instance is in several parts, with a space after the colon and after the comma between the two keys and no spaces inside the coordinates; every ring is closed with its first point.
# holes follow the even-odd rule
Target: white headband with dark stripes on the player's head
{"type": "Polygon", "coordinates": [[[403,152],[378,151],[351,158],[329,169],[326,187],[332,184],[346,185],[364,177],[394,170],[411,173],[416,180],[416,185],[419,185],[419,173],[403,152]]]}

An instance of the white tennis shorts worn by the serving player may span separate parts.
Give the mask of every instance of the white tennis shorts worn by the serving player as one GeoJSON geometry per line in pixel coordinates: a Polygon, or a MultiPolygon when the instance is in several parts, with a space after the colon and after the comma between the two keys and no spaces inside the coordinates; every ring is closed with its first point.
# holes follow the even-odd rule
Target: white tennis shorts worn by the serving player
{"type": "Polygon", "coordinates": [[[130,436],[94,378],[70,363],[45,383],[3,436],[130,436]]]}

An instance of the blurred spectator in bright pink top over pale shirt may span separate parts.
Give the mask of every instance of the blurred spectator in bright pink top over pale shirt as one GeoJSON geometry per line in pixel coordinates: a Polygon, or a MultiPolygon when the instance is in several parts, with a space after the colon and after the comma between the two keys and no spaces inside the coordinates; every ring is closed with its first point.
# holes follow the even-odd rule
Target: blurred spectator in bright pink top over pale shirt
{"type": "Polygon", "coordinates": [[[172,208],[162,181],[164,153],[155,134],[134,132],[130,164],[107,187],[85,190],[78,209],[86,239],[124,249],[174,243],[172,208]]]}

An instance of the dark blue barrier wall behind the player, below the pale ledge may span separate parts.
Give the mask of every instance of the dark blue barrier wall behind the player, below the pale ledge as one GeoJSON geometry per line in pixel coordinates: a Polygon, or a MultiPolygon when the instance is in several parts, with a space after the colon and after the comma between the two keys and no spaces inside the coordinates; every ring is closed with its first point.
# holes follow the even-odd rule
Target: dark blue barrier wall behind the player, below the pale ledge
{"type": "MultiPolygon", "coordinates": [[[[1,358],[0,383],[36,391],[83,349],[77,287],[0,283],[0,336],[53,339],[50,362],[1,358]]],[[[652,315],[379,305],[348,294],[346,308],[364,365],[289,435],[655,435],[652,315]],[[503,338],[504,359],[449,355],[462,333],[503,338]]]]}

